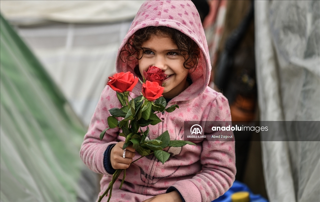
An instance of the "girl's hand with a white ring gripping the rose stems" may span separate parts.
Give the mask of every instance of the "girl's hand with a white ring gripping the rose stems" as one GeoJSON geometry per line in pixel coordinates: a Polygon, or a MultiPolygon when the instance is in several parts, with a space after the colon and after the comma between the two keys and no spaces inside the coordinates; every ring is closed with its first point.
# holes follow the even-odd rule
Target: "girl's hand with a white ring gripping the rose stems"
{"type": "Polygon", "coordinates": [[[123,158],[123,147],[124,142],[118,142],[110,153],[110,162],[113,169],[127,169],[132,162],[132,158],[135,155],[135,149],[132,145],[126,148],[125,158],[123,158]]]}

